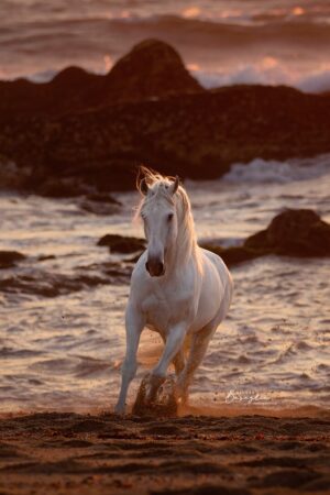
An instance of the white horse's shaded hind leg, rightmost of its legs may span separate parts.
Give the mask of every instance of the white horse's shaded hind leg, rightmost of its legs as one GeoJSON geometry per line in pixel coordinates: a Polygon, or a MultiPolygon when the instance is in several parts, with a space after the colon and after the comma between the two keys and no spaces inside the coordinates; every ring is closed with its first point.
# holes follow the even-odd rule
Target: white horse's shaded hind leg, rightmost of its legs
{"type": "Polygon", "coordinates": [[[218,328],[218,321],[213,321],[199,330],[191,339],[190,352],[184,370],[177,380],[177,395],[185,404],[188,400],[188,388],[194,378],[194,373],[200,365],[209,342],[218,328]]]}

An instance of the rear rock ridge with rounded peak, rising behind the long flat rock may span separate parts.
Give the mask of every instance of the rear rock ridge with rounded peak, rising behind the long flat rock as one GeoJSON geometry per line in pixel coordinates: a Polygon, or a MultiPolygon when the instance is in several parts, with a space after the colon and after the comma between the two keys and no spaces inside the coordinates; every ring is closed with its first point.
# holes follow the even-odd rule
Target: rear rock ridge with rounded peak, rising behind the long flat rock
{"type": "Polygon", "coordinates": [[[67,67],[50,82],[0,81],[0,112],[59,116],[120,101],[141,101],[202,91],[179,54],[167,43],[146,40],[101,76],[67,67]]]}

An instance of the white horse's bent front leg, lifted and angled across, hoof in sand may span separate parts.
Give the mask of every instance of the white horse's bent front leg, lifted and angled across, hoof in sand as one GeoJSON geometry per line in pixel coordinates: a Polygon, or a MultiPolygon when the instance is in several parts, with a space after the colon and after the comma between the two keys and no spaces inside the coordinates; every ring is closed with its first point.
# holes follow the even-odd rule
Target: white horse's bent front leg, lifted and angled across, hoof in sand
{"type": "Polygon", "coordinates": [[[186,331],[187,324],[185,323],[178,323],[169,330],[162,358],[150,374],[147,400],[152,402],[155,399],[160,386],[165,381],[169,363],[177,355],[184,344],[186,331]]]}

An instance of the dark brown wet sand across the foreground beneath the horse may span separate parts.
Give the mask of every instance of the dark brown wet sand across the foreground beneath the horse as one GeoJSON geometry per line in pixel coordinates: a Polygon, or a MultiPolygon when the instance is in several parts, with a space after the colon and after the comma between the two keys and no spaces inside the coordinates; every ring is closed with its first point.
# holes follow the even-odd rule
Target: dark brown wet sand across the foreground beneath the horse
{"type": "Polygon", "coordinates": [[[2,417],[0,439],[1,495],[318,494],[330,487],[327,411],[43,413],[2,417]]]}

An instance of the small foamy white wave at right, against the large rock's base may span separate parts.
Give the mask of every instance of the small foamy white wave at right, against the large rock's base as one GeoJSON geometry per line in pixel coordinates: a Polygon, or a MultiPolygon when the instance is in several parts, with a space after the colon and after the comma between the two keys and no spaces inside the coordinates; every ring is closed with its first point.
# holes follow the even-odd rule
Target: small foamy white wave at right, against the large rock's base
{"type": "Polygon", "coordinates": [[[312,158],[289,160],[287,162],[255,158],[249,164],[234,164],[222,177],[227,183],[275,183],[287,184],[310,180],[330,174],[330,155],[312,158]]]}

